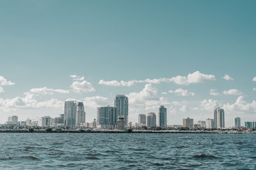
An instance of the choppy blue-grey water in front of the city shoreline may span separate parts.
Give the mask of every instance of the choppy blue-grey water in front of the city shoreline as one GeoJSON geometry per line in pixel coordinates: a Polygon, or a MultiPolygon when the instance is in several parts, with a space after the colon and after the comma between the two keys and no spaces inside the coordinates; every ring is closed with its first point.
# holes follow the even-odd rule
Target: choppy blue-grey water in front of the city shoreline
{"type": "Polygon", "coordinates": [[[0,169],[256,169],[255,134],[0,133],[0,169]]]}

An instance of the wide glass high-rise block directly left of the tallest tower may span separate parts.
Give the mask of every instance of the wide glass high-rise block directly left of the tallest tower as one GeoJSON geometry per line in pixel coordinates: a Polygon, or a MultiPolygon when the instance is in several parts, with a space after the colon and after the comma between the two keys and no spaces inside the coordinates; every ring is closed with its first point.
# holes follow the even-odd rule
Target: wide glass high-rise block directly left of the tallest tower
{"type": "Polygon", "coordinates": [[[97,108],[97,124],[100,128],[116,128],[117,117],[117,108],[115,107],[105,106],[97,108]]]}

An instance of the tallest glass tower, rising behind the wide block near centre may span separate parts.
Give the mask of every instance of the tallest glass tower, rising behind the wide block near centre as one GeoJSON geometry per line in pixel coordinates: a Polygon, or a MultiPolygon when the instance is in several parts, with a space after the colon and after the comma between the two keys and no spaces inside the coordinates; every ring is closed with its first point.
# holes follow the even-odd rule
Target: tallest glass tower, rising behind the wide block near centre
{"type": "Polygon", "coordinates": [[[124,124],[126,127],[128,125],[128,97],[124,95],[116,95],[115,107],[117,108],[117,116],[124,117],[124,124]]]}

